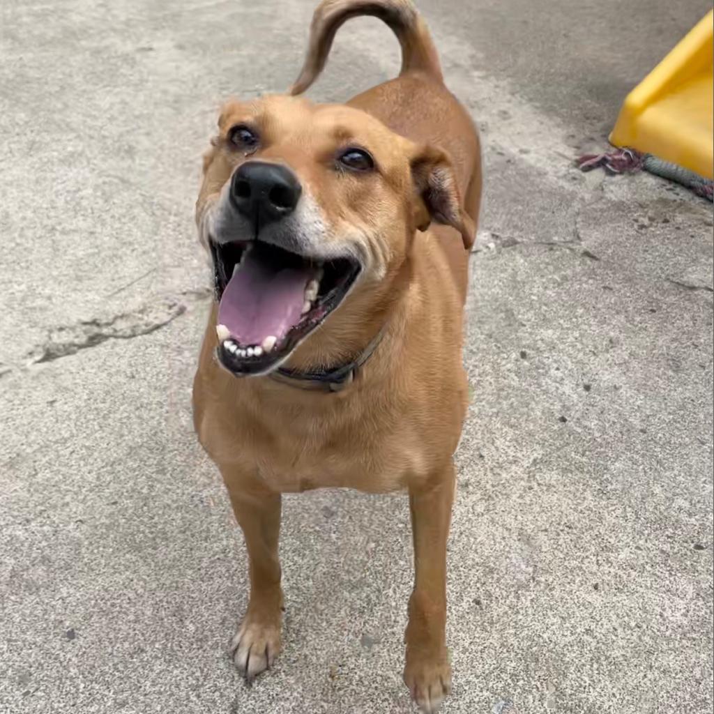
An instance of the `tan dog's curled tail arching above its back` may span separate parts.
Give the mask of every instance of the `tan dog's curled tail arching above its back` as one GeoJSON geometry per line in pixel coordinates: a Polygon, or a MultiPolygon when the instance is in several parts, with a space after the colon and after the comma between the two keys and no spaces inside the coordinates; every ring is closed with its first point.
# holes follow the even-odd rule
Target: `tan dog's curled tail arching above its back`
{"type": "Polygon", "coordinates": [[[313,15],[308,54],[290,94],[302,94],[313,84],[325,66],[338,29],[360,15],[378,17],[396,34],[402,49],[400,74],[418,71],[442,81],[436,48],[411,0],[323,0],[313,15]]]}

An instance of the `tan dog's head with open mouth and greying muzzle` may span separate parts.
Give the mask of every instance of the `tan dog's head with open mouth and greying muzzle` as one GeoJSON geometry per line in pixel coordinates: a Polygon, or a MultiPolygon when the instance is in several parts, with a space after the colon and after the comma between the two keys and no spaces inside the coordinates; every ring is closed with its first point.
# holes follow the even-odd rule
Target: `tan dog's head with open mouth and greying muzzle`
{"type": "Polygon", "coordinates": [[[196,220],[235,374],[272,371],[345,303],[378,304],[431,221],[473,241],[446,155],[363,111],[268,96],[227,104],[218,128],[196,220]]]}

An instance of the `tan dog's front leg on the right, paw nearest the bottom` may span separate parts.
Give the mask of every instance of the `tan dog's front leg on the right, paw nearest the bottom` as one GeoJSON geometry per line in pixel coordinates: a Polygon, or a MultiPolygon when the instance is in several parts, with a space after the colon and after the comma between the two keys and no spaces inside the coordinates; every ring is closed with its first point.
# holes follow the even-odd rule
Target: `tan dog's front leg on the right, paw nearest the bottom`
{"type": "Polygon", "coordinates": [[[454,468],[449,463],[424,485],[409,488],[414,540],[414,589],[409,600],[404,682],[424,713],[436,712],[451,691],[446,649],[446,539],[454,468]]]}

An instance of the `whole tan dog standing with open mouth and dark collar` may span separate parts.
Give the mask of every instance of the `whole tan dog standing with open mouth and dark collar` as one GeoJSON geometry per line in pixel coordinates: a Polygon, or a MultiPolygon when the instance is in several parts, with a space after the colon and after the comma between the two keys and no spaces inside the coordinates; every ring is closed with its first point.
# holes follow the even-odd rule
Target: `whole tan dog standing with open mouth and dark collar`
{"type": "Polygon", "coordinates": [[[357,15],[396,33],[397,79],[346,105],[266,96],[223,108],[196,207],[217,302],[194,421],[246,539],[251,593],[232,644],[241,672],[250,680],[281,647],[281,493],[403,489],[416,563],[404,680],[433,712],[451,687],[446,539],[480,149],[408,0],[323,1],[291,94],[357,15]]]}

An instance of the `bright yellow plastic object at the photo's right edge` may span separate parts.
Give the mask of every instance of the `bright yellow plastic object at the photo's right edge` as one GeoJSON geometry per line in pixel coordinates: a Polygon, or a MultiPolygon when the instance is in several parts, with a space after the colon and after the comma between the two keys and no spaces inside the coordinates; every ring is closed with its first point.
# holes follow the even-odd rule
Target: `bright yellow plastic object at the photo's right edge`
{"type": "Polygon", "coordinates": [[[628,94],[610,142],[714,178],[714,11],[628,94]]]}

